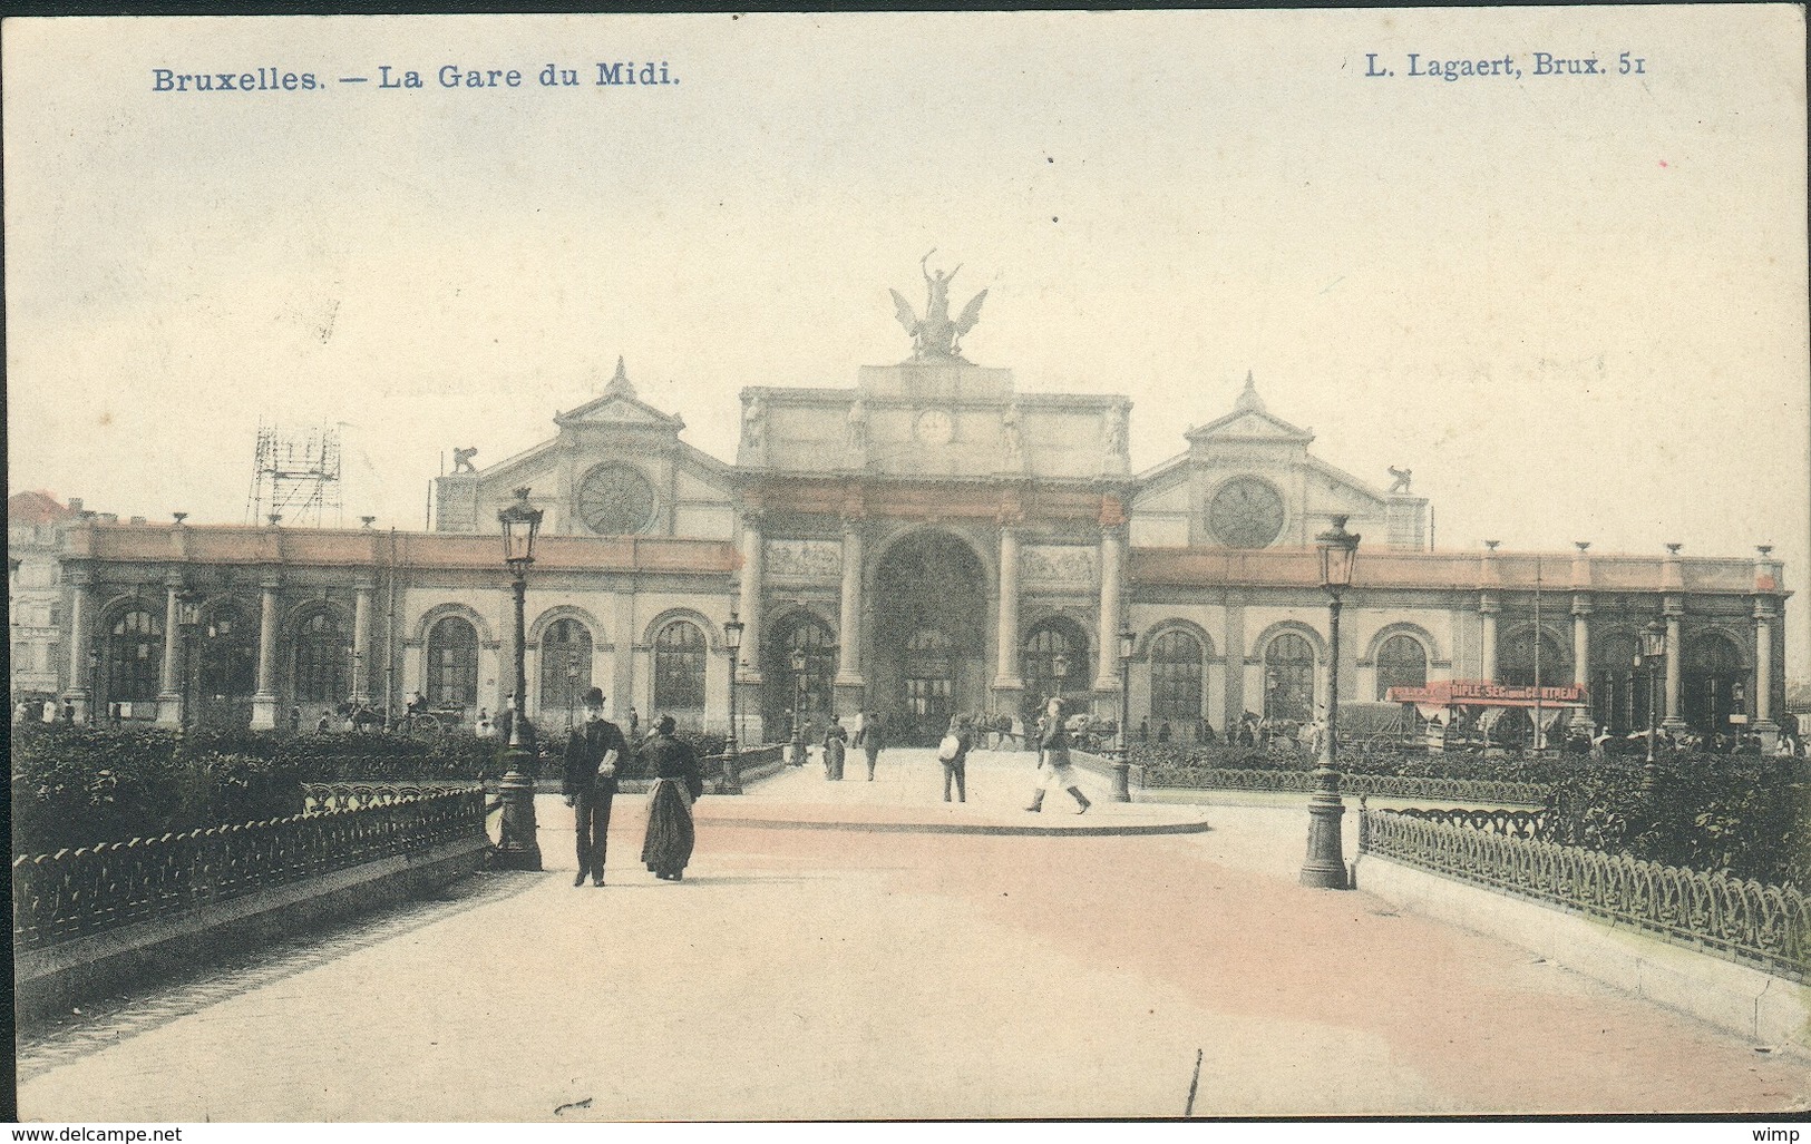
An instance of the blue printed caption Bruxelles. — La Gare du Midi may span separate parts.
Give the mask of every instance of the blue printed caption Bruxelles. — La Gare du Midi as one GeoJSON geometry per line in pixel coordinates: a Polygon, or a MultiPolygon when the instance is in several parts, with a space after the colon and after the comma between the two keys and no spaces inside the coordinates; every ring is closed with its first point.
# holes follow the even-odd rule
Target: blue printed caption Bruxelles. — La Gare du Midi
{"type": "Polygon", "coordinates": [[[520,67],[465,67],[444,63],[426,72],[380,63],[375,74],[328,76],[311,71],[283,67],[255,67],[252,71],[179,72],[172,67],[150,69],[154,92],[301,92],[326,91],[337,85],[364,85],[377,91],[491,91],[536,87],[668,87],[679,83],[665,60],[637,63],[616,60],[587,67],[560,67],[549,63],[538,72],[520,67]]]}

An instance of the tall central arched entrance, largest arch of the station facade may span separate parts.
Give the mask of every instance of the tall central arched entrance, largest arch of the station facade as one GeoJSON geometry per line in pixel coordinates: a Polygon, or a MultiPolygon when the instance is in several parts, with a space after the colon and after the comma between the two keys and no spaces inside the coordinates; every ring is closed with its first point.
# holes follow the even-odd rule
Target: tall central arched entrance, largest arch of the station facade
{"type": "Polygon", "coordinates": [[[880,558],[873,601],[871,702],[893,742],[931,746],[987,706],[987,572],[956,538],[916,532],[880,558]]]}

